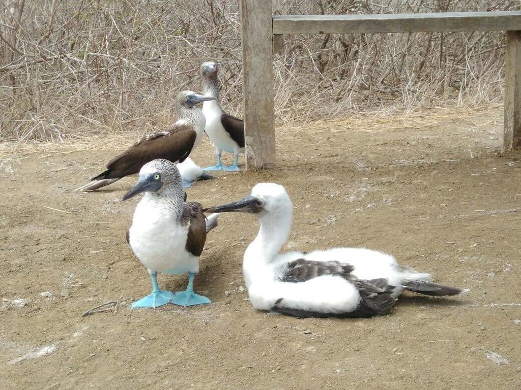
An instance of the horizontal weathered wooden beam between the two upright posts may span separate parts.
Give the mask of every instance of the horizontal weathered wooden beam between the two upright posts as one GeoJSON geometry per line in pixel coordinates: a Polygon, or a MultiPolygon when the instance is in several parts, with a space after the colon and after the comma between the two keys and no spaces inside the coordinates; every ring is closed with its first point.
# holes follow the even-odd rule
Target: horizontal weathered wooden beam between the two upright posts
{"type": "Polygon", "coordinates": [[[521,11],[380,15],[275,15],[274,34],[521,30],[521,11]]]}

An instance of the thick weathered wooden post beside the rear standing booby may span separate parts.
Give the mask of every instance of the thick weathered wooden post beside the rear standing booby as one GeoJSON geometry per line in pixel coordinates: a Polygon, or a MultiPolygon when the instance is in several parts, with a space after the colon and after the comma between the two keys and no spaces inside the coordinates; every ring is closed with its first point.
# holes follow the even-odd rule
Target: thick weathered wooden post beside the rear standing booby
{"type": "Polygon", "coordinates": [[[241,0],[246,169],[275,166],[271,0],[241,0]]]}

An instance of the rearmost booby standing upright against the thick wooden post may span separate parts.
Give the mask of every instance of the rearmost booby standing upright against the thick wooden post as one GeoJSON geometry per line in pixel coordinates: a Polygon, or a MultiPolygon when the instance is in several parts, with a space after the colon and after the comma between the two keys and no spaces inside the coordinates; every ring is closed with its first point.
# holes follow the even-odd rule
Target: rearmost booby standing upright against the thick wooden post
{"type": "Polygon", "coordinates": [[[206,118],[205,132],[212,140],[217,155],[217,165],[204,168],[205,171],[239,171],[237,165],[239,153],[244,153],[244,122],[235,116],[225,113],[219,105],[219,79],[217,64],[209,61],[201,65],[203,72],[203,94],[212,96],[215,100],[203,103],[203,112],[206,118]],[[221,153],[225,150],[234,154],[233,165],[225,166],[221,163],[221,153]]]}

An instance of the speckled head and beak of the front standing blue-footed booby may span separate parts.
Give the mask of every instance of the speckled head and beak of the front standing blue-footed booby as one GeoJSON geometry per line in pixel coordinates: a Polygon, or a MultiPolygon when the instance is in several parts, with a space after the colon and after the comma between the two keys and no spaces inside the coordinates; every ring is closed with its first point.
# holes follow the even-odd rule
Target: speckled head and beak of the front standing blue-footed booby
{"type": "Polygon", "coordinates": [[[164,194],[168,189],[169,193],[175,192],[184,196],[181,174],[176,164],[169,160],[152,160],[141,167],[138,183],[123,196],[123,200],[141,192],[164,194]]]}

